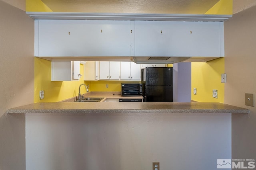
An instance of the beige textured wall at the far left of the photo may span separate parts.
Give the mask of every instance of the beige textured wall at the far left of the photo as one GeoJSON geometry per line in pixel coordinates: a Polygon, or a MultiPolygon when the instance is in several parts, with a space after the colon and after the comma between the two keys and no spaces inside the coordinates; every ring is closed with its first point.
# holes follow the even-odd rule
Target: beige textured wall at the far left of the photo
{"type": "Polygon", "coordinates": [[[0,0],[0,30],[0,170],[25,170],[24,115],[6,110],[33,103],[34,21],[0,0]]]}

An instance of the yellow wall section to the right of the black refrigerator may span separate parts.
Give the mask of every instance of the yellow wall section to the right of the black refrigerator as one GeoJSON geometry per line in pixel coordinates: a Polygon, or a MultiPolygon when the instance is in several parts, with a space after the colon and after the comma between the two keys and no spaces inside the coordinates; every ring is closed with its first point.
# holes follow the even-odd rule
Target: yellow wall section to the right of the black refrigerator
{"type": "Polygon", "coordinates": [[[197,102],[224,103],[224,83],[221,74],[224,73],[224,58],[207,63],[191,63],[191,100],[197,102]],[[197,94],[193,94],[193,89],[197,94]],[[218,98],[212,97],[212,90],[218,90],[218,98]]]}

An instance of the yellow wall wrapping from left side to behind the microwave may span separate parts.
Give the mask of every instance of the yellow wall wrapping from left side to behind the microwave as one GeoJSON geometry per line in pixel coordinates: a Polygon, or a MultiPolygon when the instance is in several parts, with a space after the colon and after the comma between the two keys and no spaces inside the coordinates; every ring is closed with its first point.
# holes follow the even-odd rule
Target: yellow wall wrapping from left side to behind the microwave
{"type": "MultiPolygon", "coordinates": [[[[80,73],[84,74],[84,65],[80,64],[80,73]]],[[[120,91],[121,83],[140,83],[140,81],[51,81],[51,61],[34,57],[34,102],[59,102],[78,96],[80,84],[89,85],[89,91],[120,91]],[[108,84],[108,88],[106,88],[108,84]],[[39,91],[44,90],[44,99],[39,99],[39,91]]],[[[84,86],[81,93],[86,93],[84,86]]]]}

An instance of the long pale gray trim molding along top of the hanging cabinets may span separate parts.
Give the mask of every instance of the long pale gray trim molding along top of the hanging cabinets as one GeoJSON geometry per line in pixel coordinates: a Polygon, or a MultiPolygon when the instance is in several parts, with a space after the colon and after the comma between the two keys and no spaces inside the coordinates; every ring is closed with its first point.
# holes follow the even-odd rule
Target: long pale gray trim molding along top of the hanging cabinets
{"type": "Polygon", "coordinates": [[[26,12],[34,20],[140,20],[223,22],[232,15],[26,12]]]}

